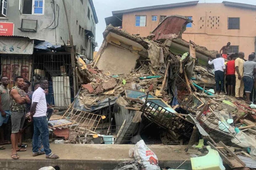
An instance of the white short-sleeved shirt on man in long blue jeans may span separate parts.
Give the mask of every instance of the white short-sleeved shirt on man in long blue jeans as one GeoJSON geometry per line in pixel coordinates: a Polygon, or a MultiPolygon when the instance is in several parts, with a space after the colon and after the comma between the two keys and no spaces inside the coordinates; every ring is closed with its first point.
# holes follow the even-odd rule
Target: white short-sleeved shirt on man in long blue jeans
{"type": "Polygon", "coordinates": [[[46,116],[47,112],[47,104],[46,104],[46,98],[45,98],[45,92],[41,87],[38,87],[36,91],[34,91],[32,95],[32,103],[36,102],[36,113],[33,117],[42,117],[46,116]]]}

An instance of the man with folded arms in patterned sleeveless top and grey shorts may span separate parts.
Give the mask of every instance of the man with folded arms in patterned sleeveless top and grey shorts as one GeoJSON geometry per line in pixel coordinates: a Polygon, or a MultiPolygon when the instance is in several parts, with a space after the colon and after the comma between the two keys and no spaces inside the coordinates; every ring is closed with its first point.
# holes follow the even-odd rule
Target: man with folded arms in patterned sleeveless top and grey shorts
{"type": "Polygon", "coordinates": [[[26,119],[26,103],[31,103],[26,93],[22,90],[24,79],[21,76],[15,77],[16,86],[10,90],[10,114],[12,121],[12,154],[13,159],[18,159],[17,151],[26,151],[24,148],[18,148],[18,137],[26,119]]]}

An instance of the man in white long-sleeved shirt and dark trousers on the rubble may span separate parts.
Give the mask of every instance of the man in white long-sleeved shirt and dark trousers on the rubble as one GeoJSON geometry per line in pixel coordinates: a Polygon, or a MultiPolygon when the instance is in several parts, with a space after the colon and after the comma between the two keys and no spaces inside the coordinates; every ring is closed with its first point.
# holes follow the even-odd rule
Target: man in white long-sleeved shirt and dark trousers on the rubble
{"type": "Polygon", "coordinates": [[[221,94],[224,93],[224,75],[226,75],[226,66],[224,64],[224,58],[220,56],[220,54],[216,54],[216,59],[210,61],[211,59],[208,58],[208,64],[214,65],[214,75],[215,75],[215,82],[216,82],[216,94],[221,89],[221,94]],[[220,87],[221,83],[221,87],[220,87]]]}

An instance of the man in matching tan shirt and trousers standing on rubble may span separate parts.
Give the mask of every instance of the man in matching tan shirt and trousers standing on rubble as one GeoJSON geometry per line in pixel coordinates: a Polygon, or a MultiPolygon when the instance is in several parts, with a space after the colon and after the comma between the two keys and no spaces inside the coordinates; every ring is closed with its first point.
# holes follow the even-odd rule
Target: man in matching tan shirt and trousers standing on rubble
{"type": "Polygon", "coordinates": [[[244,95],[244,52],[238,53],[238,58],[235,60],[235,67],[236,67],[236,99],[241,100],[243,99],[244,95]]]}

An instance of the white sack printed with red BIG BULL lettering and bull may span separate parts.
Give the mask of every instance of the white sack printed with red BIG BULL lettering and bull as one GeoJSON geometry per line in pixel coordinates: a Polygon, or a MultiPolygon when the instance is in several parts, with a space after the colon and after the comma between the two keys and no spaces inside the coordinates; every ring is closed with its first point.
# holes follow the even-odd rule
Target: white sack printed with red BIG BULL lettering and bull
{"type": "Polygon", "coordinates": [[[140,140],[135,144],[134,158],[146,170],[160,170],[156,154],[146,146],[143,140],[140,140]]]}

